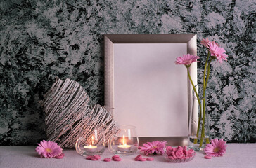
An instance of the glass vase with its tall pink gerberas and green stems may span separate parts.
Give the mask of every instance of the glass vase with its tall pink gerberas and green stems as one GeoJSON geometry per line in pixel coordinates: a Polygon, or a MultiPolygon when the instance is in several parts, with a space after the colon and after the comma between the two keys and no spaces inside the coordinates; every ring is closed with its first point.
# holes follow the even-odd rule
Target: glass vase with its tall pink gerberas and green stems
{"type": "Polygon", "coordinates": [[[196,151],[203,151],[205,144],[210,143],[209,114],[207,112],[206,91],[207,83],[210,77],[210,63],[215,59],[217,59],[217,62],[222,63],[227,61],[226,57],[228,57],[228,55],[225,54],[226,51],[224,48],[219,47],[219,44],[217,44],[215,41],[209,41],[208,38],[203,38],[201,44],[205,46],[208,52],[203,72],[203,85],[196,85],[196,87],[198,87],[198,91],[196,90],[196,87],[191,79],[189,67],[193,62],[198,62],[197,60],[200,59],[200,57],[186,54],[183,55],[183,57],[177,57],[175,61],[175,64],[183,64],[186,66],[188,78],[193,86],[193,104],[191,106],[192,109],[189,118],[188,146],[196,151]]]}

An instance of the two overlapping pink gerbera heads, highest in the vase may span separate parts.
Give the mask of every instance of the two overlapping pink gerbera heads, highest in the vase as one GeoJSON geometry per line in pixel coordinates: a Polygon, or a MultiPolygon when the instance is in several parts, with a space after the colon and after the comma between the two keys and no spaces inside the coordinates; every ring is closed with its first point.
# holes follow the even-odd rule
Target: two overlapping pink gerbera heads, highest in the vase
{"type": "Polygon", "coordinates": [[[223,61],[226,61],[226,57],[228,57],[224,52],[224,48],[219,47],[215,41],[209,41],[208,38],[203,38],[201,41],[201,44],[204,45],[206,48],[208,48],[210,54],[212,57],[217,58],[217,60],[222,63],[223,61]]]}

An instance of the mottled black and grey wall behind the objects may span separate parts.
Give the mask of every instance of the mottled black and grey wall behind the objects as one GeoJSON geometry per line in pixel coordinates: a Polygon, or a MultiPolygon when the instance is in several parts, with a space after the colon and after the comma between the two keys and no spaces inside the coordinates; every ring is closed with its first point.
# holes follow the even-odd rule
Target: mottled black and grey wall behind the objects
{"type": "MultiPolygon", "coordinates": [[[[81,83],[91,104],[103,105],[103,34],[176,33],[197,34],[198,55],[206,55],[203,37],[229,55],[211,67],[212,137],[256,142],[255,0],[8,0],[0,6],[0,145],[46,138],[39,101],[56,76],[81,83]]],[[[200,79],[202,71],[199,64],[200,79]]]]}

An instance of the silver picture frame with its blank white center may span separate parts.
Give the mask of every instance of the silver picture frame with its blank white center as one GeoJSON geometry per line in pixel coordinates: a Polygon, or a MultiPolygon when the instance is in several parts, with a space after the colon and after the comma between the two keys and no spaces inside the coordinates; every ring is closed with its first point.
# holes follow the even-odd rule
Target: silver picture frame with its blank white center
{"type": "MultiPolygon", "coordinates": [[[[105,108],[119,125],[137,127],[139,144],[188,144],[193,88],[174,64],[182,54],[196,55],[196,34],[104,35],[105,108]]],[[[189,71],[196,85],[196,62],[189,71]]]]}

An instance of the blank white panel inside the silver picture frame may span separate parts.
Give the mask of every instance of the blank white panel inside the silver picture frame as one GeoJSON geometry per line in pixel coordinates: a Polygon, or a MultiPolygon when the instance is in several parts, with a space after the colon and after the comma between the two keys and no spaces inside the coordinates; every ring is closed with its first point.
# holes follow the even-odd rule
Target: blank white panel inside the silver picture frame
{"type": "Polygon", "coordinates": [[[114,118],[139,137],[188,134],[186,68],[175,58],[185,43],[114,44],[114,118]]]}

